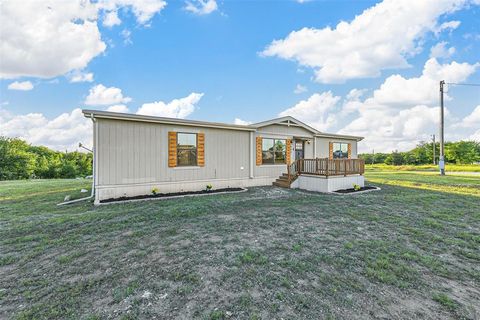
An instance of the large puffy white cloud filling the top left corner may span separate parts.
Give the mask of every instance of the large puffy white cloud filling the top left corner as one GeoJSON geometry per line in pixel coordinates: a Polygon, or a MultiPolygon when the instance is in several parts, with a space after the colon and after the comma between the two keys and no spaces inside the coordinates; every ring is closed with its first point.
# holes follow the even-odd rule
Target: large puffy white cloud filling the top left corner
{"type": "Polygon", "coordinates": [[[86,1],[4,1],[0,77],[51,78],[83,69],[106,46],[86,1]]]}

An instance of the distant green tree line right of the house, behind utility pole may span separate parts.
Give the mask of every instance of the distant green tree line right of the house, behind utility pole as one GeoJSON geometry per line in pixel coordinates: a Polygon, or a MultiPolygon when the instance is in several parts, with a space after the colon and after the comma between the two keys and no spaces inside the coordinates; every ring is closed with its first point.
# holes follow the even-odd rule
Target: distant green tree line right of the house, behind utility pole
{"type": "MultiPolygon", "coordinates": [[[[438,163],[440,144],[435,144],[435,163],[438,163]]],[[[359,158],[367,164],[385,163],[389,165],[433,164],[433,143],[421,142],[406,152],[362,153],[359,158]]],[[[473,164],[480,161],[480,142],[458,141],[445,143],[445,162],[473,164]]]]}

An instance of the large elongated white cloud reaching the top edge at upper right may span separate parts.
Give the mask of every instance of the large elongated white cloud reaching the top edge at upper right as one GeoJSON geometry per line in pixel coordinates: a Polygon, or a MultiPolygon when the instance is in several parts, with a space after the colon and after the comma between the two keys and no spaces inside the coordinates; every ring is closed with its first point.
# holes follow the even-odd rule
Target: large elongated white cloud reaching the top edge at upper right
{"type": "Polygon", "coordinates": [[[274,40],[262,55],[313,68],[316,81],[323,83],[376,77],[384,69],[409,67],[407,59],[422,50],[426,34],[458,26],[452,21],[438,26],[438,19],[468,3],[385,0],[335,28],[293,31],[274,40]]]}

